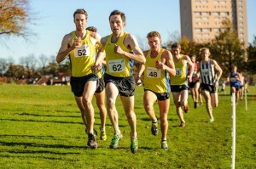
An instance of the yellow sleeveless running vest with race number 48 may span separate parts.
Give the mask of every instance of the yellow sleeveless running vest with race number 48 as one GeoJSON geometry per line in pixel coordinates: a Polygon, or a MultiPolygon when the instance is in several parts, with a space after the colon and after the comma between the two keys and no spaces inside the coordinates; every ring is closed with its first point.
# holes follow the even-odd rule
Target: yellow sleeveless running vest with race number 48
{"type": "Polygon", "coordinates": [[[150,57],[151,50],[148,51],[146,56],[145,70],[144,70],[144,88],[152,90],[155,93],[170,93],[171,88],[169,84],[168,73],[166,70],[158,70],[155,68],[155,63],[160,60],[161,55],[165,51],[164,48],[160,49],[160,54],[156,58],[150,57]]]}

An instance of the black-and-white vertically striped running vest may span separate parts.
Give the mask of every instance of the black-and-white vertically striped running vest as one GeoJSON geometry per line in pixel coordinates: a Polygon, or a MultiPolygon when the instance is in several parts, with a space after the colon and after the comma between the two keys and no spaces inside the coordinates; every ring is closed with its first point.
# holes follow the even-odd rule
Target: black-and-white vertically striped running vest
{"type": "Polygon", "coordinates": [[[214,83],[214,68],[211,64],[211,59],[208,59],[206,64],[203,64],[203,62],[200,62],[200,74],[201,74],[201,82],[213,85],[214,83]]]}

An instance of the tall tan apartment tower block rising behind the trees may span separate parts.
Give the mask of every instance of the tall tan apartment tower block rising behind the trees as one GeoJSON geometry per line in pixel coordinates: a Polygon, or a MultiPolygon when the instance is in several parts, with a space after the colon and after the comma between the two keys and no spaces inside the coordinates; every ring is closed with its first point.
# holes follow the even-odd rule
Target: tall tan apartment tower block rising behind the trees
{"type": "Polygon", "coordinates": [[[179,0],[179,3],[182,37],[208,42],[218,35],[222,20],[229,19],[247,46],[246,0],[179,0]]]}

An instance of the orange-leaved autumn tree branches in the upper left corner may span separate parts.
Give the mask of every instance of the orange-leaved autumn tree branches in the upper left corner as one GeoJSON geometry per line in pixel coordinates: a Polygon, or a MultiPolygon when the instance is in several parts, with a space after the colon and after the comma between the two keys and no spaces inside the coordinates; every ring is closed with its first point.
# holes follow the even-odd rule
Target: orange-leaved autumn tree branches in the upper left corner
{"type": "Polygon", "coordinates": [[[15,35],[25,39],[28,33],[27,23],[32,21],[27,0],[0,1],[0,36],[15,35]]]}

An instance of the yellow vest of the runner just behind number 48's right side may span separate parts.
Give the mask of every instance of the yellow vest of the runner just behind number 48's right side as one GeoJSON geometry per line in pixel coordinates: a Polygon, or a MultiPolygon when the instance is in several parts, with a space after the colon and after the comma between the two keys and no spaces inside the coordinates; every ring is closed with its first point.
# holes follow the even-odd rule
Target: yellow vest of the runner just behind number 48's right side
{"type": "Polygon", "coordinates": [[[188,67],[183,64],[183,54],[180,54],[177,62],[175,62],[175,60],[173,60],[173,62],[175,65],[176,76],[171,75],[171,85],[188,85],[188,67]]]}

